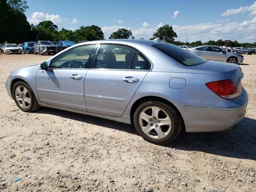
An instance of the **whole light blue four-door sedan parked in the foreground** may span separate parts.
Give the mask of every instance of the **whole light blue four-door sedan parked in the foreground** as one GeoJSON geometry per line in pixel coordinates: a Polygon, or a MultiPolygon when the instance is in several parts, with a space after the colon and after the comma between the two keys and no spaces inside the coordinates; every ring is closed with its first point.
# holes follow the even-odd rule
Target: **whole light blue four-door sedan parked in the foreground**
{"type": "Polygon", "coordinates": [[[44,106],[106,118],[167,144],[182,128],[233,129],[246,114],[243,76],[237,64],[208,61],[159,38],[98,40],[13,70],[5,86],[24,112],[44,106]]]}

